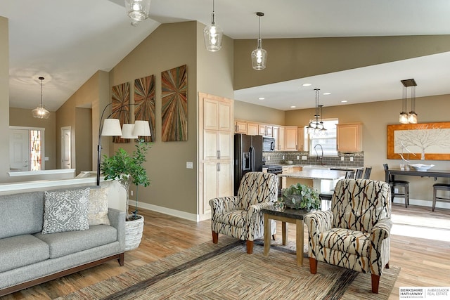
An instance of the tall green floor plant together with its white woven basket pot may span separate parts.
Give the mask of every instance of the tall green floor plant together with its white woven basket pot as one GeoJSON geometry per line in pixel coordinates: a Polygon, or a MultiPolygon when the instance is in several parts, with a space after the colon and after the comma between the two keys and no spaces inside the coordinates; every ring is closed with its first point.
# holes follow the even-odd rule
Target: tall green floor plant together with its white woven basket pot
{"type": "Polygon", "coordinates": [[[139,140],[136,143],[136,149],[129,155],[123,148],[119,148],[115,155],[107,157],[103,155],[101,163],[101,171],[105,179],[117,180],[127,193],[126,215],[125,220],[125,250],[136,249],[139,247],[143,232],[143,216],[138,213],[138,187],[139,185],[148,186],[150,179],[148,178],[146,168],[143,162],[146,162],[146,153],[150,148],[150,143],[139,140]],[[129,185],[136,185],[136,208],[129,214],[129,185]]]}

